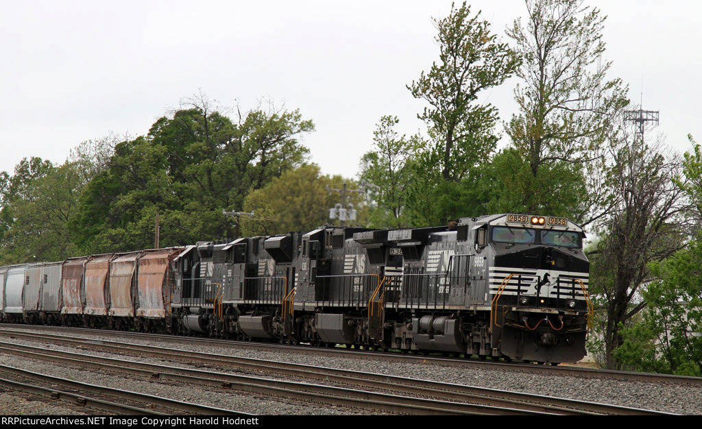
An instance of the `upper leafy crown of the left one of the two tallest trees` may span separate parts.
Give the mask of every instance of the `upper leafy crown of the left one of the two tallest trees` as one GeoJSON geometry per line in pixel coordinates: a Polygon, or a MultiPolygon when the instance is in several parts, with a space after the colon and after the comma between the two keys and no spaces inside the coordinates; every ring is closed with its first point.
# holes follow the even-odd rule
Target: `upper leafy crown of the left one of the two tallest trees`
{"type": "Polygon", "coordinates": [[[426,170],[442,180],[458,181],[475,165],[487,161],[498,140],[493,105],[478,103],[482,91],[498,86],[517,70],[519,59],[507,44],[490,33],[490,24],[470,15],[465,2],[434,19],[439,63],[407,86],[415,98],[427,101],[418,117],[430,128],[430,156],[426,170]]]}

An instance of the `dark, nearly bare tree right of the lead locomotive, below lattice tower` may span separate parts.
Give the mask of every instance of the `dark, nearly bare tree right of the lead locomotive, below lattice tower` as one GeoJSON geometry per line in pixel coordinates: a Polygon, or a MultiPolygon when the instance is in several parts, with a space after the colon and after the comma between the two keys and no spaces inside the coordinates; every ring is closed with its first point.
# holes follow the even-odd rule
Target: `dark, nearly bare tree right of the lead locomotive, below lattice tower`
{"type": "Polygon", "coordinates": [[[660,144],[647,144],[621,126],[611,136],[611,166],[601,192],[613,197],[611,215],[600,223],[595,276],[605,298],[604,356],[618,368],[614,350],[623,341],[621,328],[647,301],[635,300],[651,277],[648,265],[673,255],[689,233],[687,200],[673,178],[681,177],[680,159],[666,156],[660,144]]]}

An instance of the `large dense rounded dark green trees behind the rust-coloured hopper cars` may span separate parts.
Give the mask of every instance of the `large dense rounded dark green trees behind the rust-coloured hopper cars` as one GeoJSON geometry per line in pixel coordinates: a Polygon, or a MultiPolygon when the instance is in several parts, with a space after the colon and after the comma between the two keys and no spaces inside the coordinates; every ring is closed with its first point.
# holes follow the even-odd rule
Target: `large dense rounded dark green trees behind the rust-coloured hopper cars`
{"type": "Polygon", "coordinates": [[[147,136],[116,145],[81,194],[73,218],[86,253],[237,237],[222,211],[240,211],[246,194],[300,165],[301,134],[314,129],[297,110],[237,111],[236,121],[200,95],[161,117],[147,136]]]}

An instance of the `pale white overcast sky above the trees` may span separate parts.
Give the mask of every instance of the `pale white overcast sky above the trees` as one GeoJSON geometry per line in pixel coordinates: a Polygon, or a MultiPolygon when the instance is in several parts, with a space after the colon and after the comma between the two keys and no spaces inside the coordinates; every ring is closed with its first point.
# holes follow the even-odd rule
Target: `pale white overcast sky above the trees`
{"type": "MultiPolygon", "coordinates": [[[[503,40],[523,1],[472,1],[503,40]]],[[[590,1],[604,15],[610,77],[677,152],[702,142],[702,2],[590,1]]],[[[0,171],[23,157],[61,163],[85,140],[135,136],[180,100],[300,109],[324,173],[355,177],[384,114],[425,133],[406,85],[438,60],[431,17],[451,1],[0,0],[0,171]]],[[[509,119],[516,79],[482,95],[509,119]]],[[[504,140],[504,139],[503,139],[504,140]]],[[[503,144],[506,142],[503,141],[503,144]]]]}

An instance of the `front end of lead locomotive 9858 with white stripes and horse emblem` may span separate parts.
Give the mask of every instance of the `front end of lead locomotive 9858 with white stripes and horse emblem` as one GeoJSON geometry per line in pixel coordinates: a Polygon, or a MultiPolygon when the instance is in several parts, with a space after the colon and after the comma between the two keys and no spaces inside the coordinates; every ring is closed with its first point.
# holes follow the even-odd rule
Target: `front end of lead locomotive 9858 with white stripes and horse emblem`
{"type": "Polygon", "coordinates": [[[590,314],[582,228],[565,218],[508,214],[490,219],[486,234],[493,355],[581,359],[590,314]]]}

